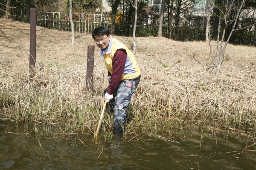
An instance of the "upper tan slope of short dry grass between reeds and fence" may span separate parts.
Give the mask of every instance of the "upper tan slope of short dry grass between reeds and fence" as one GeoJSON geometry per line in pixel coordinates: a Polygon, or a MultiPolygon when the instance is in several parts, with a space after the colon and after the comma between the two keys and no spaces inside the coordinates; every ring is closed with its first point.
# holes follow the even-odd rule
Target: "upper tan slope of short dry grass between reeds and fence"
{"type": "MultiPolygon", "coordinates": [[[[0,18],[0,65],[20,71],[29,62],[29,24],[0,18]]],[[[95,45],[90,34],[76,33],[71,45],[71,33],[37,26],[36,60],[48,64],[71,66],[86,62],[87,45],[95,45]]],[[[114,36],[131,49],[132,37],[114,36]]],[[[207,42],[177,42],[164,37],[137,37],[137,62],[158,62],[168,66],[211,64],[207,42]]],[[[215,42],[213,42],[215,43],[215,42]]],[[[215,47],[213,47],[215,50],[215,47]]],[[[99,60],[95,47],[95,62],[99,60]]],[[[228,45],[224,64],[247,66],[256,63],[256,48],[228,45]]]]}

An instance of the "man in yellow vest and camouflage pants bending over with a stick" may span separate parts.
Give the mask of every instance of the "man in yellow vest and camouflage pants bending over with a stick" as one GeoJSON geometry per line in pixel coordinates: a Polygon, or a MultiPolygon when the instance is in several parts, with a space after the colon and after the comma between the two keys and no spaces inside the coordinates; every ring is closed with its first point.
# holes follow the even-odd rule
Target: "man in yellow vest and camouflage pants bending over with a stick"
{"type": "Polygon", "coordinates": [[[95,28],[92,36],[101,49],[108,70],[109,86],[104,91],[110,111],[114,113],[114,134],[125,130],[126,110],[140,82],[140,69],[134,54],[121,42],[111,37],[107,28],[95,28]]]}

